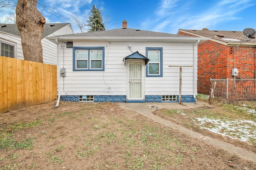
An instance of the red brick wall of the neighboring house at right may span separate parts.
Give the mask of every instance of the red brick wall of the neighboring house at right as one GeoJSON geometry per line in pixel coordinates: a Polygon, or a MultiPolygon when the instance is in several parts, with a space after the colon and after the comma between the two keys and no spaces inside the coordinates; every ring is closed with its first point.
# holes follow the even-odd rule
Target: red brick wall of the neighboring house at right
{"type": "MultiPolygon", "coordinates": [[[[187,33],[180,35],[194,36],[187,33]]],[[[238,68],[242,79],[256,79],[256,47],[226,46],[214,41],[205,41],[198,45],[198,81],[197,91],[209,94],[210,78],[234,79],[232,68],[238,68]],[[234,50],[235,49],[235,50],[234,50]]]]}

